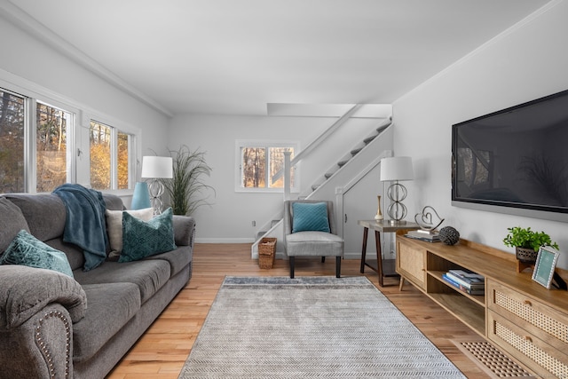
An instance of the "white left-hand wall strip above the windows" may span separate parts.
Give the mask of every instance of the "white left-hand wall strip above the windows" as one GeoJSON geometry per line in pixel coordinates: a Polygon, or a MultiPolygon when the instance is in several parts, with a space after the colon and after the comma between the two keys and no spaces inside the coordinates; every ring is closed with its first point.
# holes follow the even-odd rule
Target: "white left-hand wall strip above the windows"
{"type": "MultiPolygon", "coordinates": [[[[67,99],[75,107],[88,108],[91,115],[99,117],[99,121],[116,120],[141,130],[142,154],[153,154],[149,148],[157,153],[165,153],[167,116],[106,83],[45,43],[37,41],[4,20],[2,15],[0,36],[3,36],[0,80],[4,83],[17,82],[21,85],[29,82],[40,88],[40,91],[42,88],[47,89],[54,97],[64,101],[67,99]]],[[[13,90],[8,88],[11,89],[13,90]]]]}

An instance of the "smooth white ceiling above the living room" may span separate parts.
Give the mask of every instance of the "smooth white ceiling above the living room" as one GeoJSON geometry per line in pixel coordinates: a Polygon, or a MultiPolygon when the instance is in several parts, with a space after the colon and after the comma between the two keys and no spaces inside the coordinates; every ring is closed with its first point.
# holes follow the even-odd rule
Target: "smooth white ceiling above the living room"
{"type": "Polygon", "coordinates": [[[11,3],[80,51],[67,54],[172,115],[389,104],[548,0],[11,3]]]}

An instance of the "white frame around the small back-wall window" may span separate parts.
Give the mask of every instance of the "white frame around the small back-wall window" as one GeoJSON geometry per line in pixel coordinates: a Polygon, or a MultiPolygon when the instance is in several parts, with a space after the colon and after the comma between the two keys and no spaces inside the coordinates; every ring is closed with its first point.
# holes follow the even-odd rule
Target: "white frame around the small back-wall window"
{"type": "MultiPolygon", "coordinates": [[[[244,187],[242,186],[242,167],[241,167],[241,149],[243,147],[293,147],[294,153],[298,154],[300,152],[300,141],[297,140],[270,140],[270,139],[237,139],[235,141],[235,181],[234,190],[239,193],[283,193],[284,188],[274,188],[274,187],[244,187]]],[[[294,173],[294,186],[290,188],[291,192],[299,192],[300,188],[300,168],[299,164],[292,168],[295,170],[294,173]]],[[[267,175],[269,175],[269,170],[267,170],[267,175]]],[[[268,178],[270,180],[271,178],[268,178]]],[[[267,182],[268,183],[268,182],[267,182]]]]}

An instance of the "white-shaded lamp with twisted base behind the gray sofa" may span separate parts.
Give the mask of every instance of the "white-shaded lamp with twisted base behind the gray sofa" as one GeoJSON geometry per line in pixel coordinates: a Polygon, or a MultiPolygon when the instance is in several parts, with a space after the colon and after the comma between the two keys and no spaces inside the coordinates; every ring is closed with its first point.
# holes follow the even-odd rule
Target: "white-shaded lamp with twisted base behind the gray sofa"
{"type": "Polygon", "coordinates": [[[142,157],[142,178],[151,179],[148,184],[148,191],[154,208],[154,215],[162,214],[164,188],[160,179],[173,177],[173,159],[170,156],[148,155],[142,157]]]}

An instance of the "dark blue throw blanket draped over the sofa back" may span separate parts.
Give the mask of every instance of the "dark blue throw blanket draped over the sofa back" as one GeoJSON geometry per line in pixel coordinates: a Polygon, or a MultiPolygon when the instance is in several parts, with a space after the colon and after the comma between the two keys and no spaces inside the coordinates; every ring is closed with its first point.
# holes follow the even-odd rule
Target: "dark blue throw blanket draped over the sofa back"
{"type": "Polygon", "coordinates": [[[57,187],[53,193],[59,196],[67,209],[63,241],[83,249],[83,270],[92,270],[105,261],[108,246],[103,194],[69,183],[57,187]]]}

